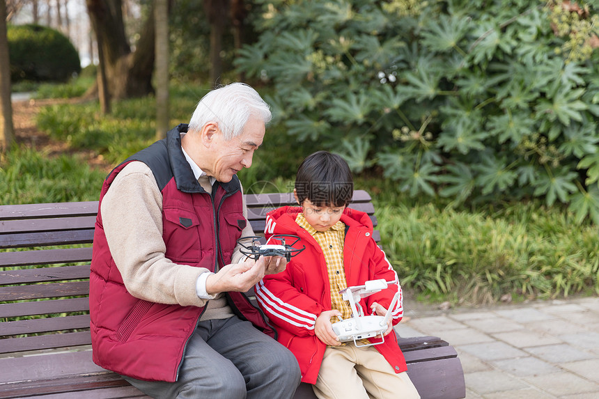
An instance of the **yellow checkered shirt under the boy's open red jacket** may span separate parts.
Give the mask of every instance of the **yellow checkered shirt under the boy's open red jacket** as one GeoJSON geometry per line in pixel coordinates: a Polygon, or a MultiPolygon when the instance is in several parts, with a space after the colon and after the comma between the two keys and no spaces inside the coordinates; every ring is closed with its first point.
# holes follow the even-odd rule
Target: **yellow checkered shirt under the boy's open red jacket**
{"type": "MultiPolygon", "coordinates": [[[[303,213],[297,215],[295,222],[304,230],[306,230],[314,240],[320,245],[322,253],[325,255],[327,262],[327,272],[329,274],[329,284],[331,287],[331,304],[332,308],[341,312],[344,319],[352,317],[352,309],[347,301],[344,301],[339,293],[340,290],[348,288],[348,283],[345,281],[345,269],[343,269],[343,240],[345,240],[345,224],[338,221],[331,226],[327,231],[316,231],[303,213]]],[[[334,318],[331,322],[336,322],[334,318]]]]}

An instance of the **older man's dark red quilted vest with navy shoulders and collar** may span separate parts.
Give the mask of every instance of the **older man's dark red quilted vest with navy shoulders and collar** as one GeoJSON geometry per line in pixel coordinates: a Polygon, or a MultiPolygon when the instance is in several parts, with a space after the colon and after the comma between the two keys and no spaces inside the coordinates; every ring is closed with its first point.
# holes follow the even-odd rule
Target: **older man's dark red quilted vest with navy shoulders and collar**
{"type": "MultiPolygon", "coordinates": [[[[242,193],[235,176],[215,186],[214,207],[185,164],[180,132],[138,152],[114,169],[104,181],[100,203],[123,167],[134,160],[152,169],[162,191],[162,237],[166,258],[175,263],[215,270],[231,262],[235,242],[247,222],[242,214],[242,193]],[[218,218],[215,218],[215,212],[218,218]],[[216,226],[215,226],[216,221],[216,226]],[[215,253],[215,235],[219,251],[215,253]]],[[[102,214],[98,209],[90,276],[90,317],[93,361],[103,368],[139,380],[174,382],[185,357],[185,346],[203,308],[148,302],[130,295],[111,257],[102,214]]],[[[194,281],[190,281],[193,284],[194,281]]],[[[229,292],[228,303],[241,318],[272,334],[263,314],[241,292],[229,292]]]]}

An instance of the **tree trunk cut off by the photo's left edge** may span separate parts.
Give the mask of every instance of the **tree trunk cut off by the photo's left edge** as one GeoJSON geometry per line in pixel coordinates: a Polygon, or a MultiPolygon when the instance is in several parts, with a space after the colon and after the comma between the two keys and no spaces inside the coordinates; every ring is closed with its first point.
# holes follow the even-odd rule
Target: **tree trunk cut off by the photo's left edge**
{"type": "Polygon", "coordinates": [[[0,152],[15,141],[13,104],[10,102],[10,60],[6,38],[6,1],[0,2],[0,152]]]}

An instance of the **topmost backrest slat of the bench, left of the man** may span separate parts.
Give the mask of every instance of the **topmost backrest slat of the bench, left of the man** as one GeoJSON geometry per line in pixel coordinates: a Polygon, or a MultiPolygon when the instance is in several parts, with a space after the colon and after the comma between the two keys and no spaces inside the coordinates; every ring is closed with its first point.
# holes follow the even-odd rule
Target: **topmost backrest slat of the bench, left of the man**
{"type": "Polygon", "coordinates": [[[31,203],[0,206],[0,220],[35,219],[39,217],[95,216],[98,201],[70,203],[31,203]]]}

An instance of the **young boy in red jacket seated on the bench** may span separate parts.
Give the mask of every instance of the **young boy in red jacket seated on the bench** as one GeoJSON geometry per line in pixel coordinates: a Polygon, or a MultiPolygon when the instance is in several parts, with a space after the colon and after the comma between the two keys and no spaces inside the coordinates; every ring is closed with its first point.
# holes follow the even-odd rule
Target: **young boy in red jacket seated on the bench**
{"type": "Polygon", "coordinates": [[[384,343],[369,345],[382,341],[380,336],[368,338],[368,346],[341,343],[332,329],[339,317],[351,317],[340,290],[368,280],[394,281],[361,300],[364,313],[372,315],[385,315],[401,293],[396,272],[373,240],[368,214],[346,208],[353,195],[348,164],[326,151],[313,153],[299,166],[293,192],[301,208],[269,212],[265,236],[297,235],[294,247],[306,249],[285,271],[265,276],[256,297],[278,327],[279,342],[299,361],[302,382],[313,384],[318,398],[420,398],[392,329],[403,316],[401,296],[384,343]]]}

